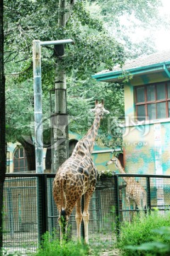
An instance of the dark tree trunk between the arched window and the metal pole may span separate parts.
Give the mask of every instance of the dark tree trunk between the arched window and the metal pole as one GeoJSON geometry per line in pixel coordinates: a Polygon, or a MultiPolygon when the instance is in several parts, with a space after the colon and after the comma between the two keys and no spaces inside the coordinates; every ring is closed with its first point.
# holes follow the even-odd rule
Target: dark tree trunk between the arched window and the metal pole
{"type": "Polygon", "coordinates": [[[27,141],[21,137],[18,139],[18,142],[21,143],[26,151],[28,171],[35,171],[35,146],[33,140],[30,139],[30,141],[27,141]]]}

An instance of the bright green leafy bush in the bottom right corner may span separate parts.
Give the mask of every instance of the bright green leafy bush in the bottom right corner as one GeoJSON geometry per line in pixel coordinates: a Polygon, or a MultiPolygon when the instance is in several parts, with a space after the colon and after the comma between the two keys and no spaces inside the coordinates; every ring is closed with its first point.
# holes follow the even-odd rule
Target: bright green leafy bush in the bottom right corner
{"type": "MultiPolygon", "coordinates": [[[[121,250],[122,255],[147,255],[147,250],[141,250],[142,248],[138,250],[137,246],[148,242],[159,242],[160,234],[153,230],[169,227],[169,223],[170,213],[168,211],[162,213],[154,210],[147,214],[137,214],[132,223],[125,222],[120,226],[120,239],[116,246],[121,250]]],[[[167,243],[164,235],[162,235],[161,242],[167,243]]]]}

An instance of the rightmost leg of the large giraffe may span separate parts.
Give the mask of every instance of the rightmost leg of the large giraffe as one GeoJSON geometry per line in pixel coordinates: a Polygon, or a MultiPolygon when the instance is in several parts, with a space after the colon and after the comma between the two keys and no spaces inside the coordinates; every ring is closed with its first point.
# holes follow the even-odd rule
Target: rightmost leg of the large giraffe
{"type": "Polygon", "coordinates": [[[84,194],[84,212],[83,212],[83,220],[84,220],[84,243],[89,244],[89,203],[91,200],[91,196],[94,190],[86,192],[84,194]]]}

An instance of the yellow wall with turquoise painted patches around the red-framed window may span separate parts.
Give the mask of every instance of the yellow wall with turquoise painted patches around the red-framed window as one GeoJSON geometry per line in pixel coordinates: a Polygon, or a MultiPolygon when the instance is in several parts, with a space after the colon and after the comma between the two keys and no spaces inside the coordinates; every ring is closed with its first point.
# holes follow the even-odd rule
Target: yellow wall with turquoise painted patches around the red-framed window
{"type": "Polygon", "coordinates": [[[157,74],[132,79],[125,85],[125,127],[123,154],[125,171],[130,174],[170,175],[170,118],[137,124],[134,85],[167,80],[157,74]]]}

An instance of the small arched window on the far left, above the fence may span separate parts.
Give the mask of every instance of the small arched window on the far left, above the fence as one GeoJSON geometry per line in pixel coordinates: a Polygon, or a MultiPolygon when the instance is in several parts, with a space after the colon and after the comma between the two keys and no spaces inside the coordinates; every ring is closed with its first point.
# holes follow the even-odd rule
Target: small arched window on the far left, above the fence
{"type": "Polygon", "coordinates": [[[23,147],[17,147],[13,154],[13,171],[26,172],[27,170],[26,152],[23,147]]]}

